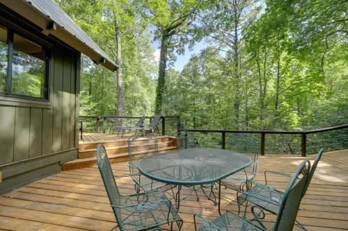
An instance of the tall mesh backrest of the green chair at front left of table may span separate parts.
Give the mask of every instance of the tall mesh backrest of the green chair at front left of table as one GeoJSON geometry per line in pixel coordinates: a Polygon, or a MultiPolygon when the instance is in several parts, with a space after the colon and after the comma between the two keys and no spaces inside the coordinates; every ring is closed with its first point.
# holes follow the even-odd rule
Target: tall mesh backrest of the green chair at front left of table
{"type": "MultiPolygon", "coordinates": [[[[102,144],[98,144],[97,146],[97,164],[111,205],[120,205],[120,191],[118,191],[108,155],[102,144]]],[[[114,212],[116,213],[115,209],[114,212]]]]}

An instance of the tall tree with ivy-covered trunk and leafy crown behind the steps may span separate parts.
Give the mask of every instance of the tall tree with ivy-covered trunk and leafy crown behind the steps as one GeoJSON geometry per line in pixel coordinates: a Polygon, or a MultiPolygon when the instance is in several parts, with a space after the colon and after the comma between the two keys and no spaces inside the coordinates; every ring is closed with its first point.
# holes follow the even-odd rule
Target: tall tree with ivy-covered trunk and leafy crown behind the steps
{"type": "Polygon", "coordinates": [[[177,53],[184,52],[184,45],[188,41],[185,33],[193,22],[201,1],[149,0],[143,3],[145,17],[157,28],[155,39],[161,42],[155,101],[156,114],[161,114],[162,111],[168,56],[175,58],[174,49],[177,49],[177,53]]]}

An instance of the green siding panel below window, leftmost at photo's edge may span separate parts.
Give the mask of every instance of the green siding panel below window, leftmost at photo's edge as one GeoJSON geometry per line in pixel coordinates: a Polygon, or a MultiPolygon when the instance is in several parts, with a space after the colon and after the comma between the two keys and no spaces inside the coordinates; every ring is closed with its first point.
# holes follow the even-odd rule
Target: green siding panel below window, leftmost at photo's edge
{"type": "Polygon", "coordinates": [[[11,106],[0,107],[0,164],[13,162],[15,110],[16,108],[11,106]]]}

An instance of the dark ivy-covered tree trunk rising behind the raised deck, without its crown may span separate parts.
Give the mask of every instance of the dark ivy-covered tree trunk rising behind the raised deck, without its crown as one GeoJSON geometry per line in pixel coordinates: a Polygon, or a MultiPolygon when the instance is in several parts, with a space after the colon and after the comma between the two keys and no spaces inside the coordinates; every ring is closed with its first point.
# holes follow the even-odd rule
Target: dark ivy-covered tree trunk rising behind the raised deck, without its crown
{"type": "Polygon", "coordinates": [[[166,84],[166,66],[167,66],[167,52],[168,52],[168,36],[166,33],[162,34],[161,38],[161,53],[159,54],[159,71],[156,89],[155,114],[161,114],[162,101],[164,94],[164,87],[166,84]]]}

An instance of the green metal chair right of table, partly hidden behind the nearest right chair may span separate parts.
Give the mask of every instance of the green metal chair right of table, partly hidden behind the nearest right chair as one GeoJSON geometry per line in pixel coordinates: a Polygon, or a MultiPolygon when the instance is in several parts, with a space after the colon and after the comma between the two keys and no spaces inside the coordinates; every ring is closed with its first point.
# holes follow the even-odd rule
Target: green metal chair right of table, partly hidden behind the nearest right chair
{"type": "MultiPolygon", "coordinates": [[[[315,169],[317,168],[319,160],[322,157],[322,153],[323,148],[319,150],[317,156],[315,157],[315,161],[313,162],[313,165],[310,168],[308,179],[306,180],[306,185],[302,196],[306,194],[308,186],[310,185],[310,180],[312,180],[313,175],[315,173],[315,169]]],[[[293,176],[291,173],[285,173],[282,171],[264,171],[264,179],[266,180],[266,185],[263,185],[258,182],[253,182],[254,186],[251,189],[237,194],[239,212],[240,207],[243,203],[246,202],[247,206],[247,203],[251,202],[255,205],[258,205],[258,207],[262,208],[263,210],[271,212],[272,214],[278,213],[280,201],[283,199],[284,192],[278,189],[274,189],[273,187],[267,185],[267,173],[274,173],[288,178],[291,178],[293,176]]],[[[301,225],[301,223],[299,223],[298,221],[296,221],[296,226],[302,228],[303,230],[306,230],[306,228],[304,228],[303,225],[301,225]]]]}

